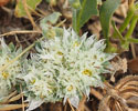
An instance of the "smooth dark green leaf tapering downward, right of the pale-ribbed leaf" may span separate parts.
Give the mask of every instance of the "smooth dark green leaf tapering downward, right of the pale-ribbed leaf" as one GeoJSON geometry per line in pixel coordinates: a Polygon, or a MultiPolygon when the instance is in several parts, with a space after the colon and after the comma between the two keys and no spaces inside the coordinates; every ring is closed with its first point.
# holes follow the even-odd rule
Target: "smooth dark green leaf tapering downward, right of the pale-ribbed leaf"
{"type": "Polygon", "coordinates": [[[104,37],[108,40],[109,23],[115,10],[119,7],[120,0],[106,0],[99,9],[99,20],[104,37]]]}

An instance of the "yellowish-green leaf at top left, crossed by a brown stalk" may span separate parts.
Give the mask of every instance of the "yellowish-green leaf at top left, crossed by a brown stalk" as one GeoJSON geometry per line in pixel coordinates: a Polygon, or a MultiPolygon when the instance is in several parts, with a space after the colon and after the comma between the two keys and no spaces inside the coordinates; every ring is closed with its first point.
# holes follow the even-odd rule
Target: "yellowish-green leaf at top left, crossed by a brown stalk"
{"type": "MultiPolygon", "coordinates": [[[[26,0],[28,9],[30,12],[35,11],[36,6],[41,2],[42,0],[26,0]]],[[[26,17],[25,9],[23,7],[23,0],[18,0],[18,3],[15,6],[15,13],[17,17],[26,17]]]]}

